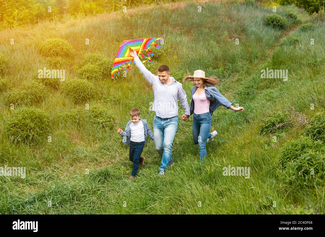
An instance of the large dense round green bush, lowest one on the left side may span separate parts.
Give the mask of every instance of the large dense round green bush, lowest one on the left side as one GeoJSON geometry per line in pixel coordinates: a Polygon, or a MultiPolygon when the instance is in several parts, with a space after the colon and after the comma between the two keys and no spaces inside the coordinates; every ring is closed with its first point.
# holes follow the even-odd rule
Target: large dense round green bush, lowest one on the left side
{"type": "Polygon", "coordinates": [[[50,116],[34,108],[19,109],[5,124],[8,137],[14,142],[34,142],[47,138],[50,131],[50,116]]]}

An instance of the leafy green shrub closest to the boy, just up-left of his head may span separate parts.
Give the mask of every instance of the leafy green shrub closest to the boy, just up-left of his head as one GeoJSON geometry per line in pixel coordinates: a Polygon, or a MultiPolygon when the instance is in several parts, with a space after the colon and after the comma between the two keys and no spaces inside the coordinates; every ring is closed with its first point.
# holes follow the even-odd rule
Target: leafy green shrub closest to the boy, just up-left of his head
{"type": "Polygon", "coordinates": [[[101,105],[90,106],[87,115],[90,123],[101,128],[112,128],[116,123],[115,116],[101,105]]]}

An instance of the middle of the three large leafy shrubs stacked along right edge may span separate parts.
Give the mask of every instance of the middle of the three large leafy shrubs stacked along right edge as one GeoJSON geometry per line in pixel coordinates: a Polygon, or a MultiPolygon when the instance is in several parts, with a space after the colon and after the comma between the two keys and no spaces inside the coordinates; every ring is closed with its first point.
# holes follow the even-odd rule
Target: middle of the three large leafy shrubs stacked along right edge
{"type": "Polygon", "coordinates": [[[278,161],[281,167],[286,167],[289,163],[298,159],[308,151],[325,153],[324,143],[314,141],[311,138],[301,136],[297,139],[285,143],[278,154],[278,161]]]}

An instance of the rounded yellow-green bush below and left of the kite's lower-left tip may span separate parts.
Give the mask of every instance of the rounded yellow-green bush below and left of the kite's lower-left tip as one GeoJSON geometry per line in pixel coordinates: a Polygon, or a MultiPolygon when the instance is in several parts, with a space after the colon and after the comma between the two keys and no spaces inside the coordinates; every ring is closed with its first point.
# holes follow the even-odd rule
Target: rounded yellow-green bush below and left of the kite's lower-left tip
{"type": "Polygon", "coordinates": [[[72,79],[62,86],[62,92],[74,103],[84,103],[96,96],[96,90],[92,83],[83,79],[72,79]]]}

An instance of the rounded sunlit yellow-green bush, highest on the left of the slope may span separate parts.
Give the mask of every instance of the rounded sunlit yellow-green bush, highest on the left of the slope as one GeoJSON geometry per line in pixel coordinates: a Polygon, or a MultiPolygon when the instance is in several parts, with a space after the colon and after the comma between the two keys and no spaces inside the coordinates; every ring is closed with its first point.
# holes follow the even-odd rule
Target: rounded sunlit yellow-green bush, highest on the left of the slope
{"type": "Polygon", "coordinates": [[[70,56],[74,50],[68,40],[60,38],[46,39],[39,46],[39,51],[45,56],[70,56]]]}

